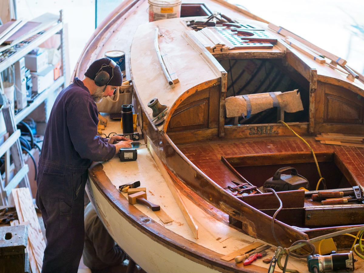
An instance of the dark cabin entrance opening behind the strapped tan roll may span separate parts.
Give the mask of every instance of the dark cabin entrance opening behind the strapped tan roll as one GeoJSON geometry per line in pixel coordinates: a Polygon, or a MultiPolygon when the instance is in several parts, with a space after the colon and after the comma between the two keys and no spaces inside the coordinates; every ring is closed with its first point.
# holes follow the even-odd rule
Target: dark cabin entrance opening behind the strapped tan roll
{"type": "MultiPolygon", "coordinates": [[[[309,82],[284,59],[223,59],[219,63],[227,72],[226,98],[270,92],[298,90],[303,110],[284,112],[285,122],[308,122],[309,82]]],[[[225,125],[277,123],[277,107],[244,116],[226,117],[225,125]]]]}

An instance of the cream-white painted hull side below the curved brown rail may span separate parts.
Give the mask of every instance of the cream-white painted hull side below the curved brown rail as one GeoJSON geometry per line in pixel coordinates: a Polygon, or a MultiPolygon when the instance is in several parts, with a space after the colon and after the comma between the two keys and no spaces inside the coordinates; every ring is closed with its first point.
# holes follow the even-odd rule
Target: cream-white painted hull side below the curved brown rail
{"type": "Polygon", "coordinates": [[[146,272],[218,272],[170,250],[127,221],[88,179],[88,196],[109,234],[146,272]]]}

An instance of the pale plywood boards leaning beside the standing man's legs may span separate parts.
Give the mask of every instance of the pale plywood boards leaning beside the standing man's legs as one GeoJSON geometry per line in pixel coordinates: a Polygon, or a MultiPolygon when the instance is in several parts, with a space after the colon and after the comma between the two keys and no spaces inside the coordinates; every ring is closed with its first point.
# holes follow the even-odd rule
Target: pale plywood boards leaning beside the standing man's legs
{"type": "MultiPolygon", "coordinates": [[[[41,272],[43,266],[43,254],[46,248],[43,234],[33,205],[29,188],[18,188],[12,190],[19,225],[28,226],[27,252],[29,263],[33,273],[41,272]]],[[[16,225],[14,221],[12,225],[16,225]]]]}

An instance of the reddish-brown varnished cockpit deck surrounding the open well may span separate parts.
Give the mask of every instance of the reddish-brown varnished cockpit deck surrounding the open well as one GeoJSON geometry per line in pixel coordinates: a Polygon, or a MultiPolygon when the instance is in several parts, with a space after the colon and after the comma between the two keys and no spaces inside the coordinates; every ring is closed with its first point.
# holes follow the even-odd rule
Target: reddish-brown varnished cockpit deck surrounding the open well
{"type": "MultiPolygon", "coordinates": [[[[304,137],[304,139],[316,152],[335,153],[339,159],[337,165],[349,183],[364,185],[364,148],[324,145],[315,141],[314,137],[304,137]]],[[[178,148],[194,165],[221,187],[232,185],[230,181],[237,179],[221,161],[222,156],[310,152],[305,143],[297,137],[221,139],[181,144],[178,145],[178,148]]],[[[316,168],[313,171],[316,171],[316,168]]]]}

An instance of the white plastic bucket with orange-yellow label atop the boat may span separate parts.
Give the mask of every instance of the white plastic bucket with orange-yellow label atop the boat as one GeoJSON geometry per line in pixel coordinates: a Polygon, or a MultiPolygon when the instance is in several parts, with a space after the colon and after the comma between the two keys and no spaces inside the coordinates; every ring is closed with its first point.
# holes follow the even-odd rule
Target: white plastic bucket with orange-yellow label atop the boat
{"type": "Polygon", "coordinates": [[[149,21],[181,17],[181,0],[148,0],[149,21]]]}

